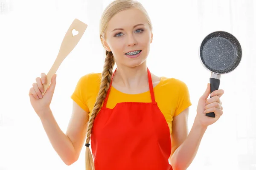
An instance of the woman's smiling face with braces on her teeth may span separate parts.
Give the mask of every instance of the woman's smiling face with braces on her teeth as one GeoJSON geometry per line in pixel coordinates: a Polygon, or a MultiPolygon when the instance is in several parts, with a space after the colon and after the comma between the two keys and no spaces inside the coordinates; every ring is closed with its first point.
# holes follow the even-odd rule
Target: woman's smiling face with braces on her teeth
{"type": "Polygon", "coordinates": [[[102,41],[105,49],[112,51],[117,65],[135,67],[148,57],[152,37],[144,14],[133,8],[111,18],[102,41]]]}

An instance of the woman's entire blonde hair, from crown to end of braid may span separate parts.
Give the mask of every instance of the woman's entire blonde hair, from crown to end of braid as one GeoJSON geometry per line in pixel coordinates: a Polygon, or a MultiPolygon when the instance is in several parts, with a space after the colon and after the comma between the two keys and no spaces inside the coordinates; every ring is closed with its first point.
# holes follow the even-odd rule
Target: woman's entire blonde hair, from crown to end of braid
{"type": "MultiPolygon", "coordinates": [[[[148,26],[150,30],[152,31],[152,24],[151,20],[148,16],[147,11],[143,7],[143,5],[136,0],[114,0],[112,3],[110,3],[105,11],[102,13],[102,17],[100,20],[100,38],[105,38],[105,33],[107,30],[108,22],[111,20],[111,18],[119,13],[120,11],[131,9],[131,8],[137,8],[140,11],[145,14],[146,20],[148,21],[148,26]]],[[[102,42],[102,40],[101,40],[102,42]]],[[[102,42],[102,45],[104,47],[104,44],[102,42]]],[[[93,111],[91,113],[91,117],[89,120],[88,128],[87,128],[87,135],[86,135],[86,150],[85,150],[85,169],[86,170],[95,170],[94,162],[93,162],[93,156],[91,154],[90,148],[89,148],[89,142],[90,142],[90,134],[92,132],[93,122],[96,117],[96,115],[99,113],[100,108],[102,107],[102,104],[105,100],[106,94],[108,92],[111,77],[113,74],[113,66],[115,65],[115,60],[113,57],[112,52],[106,51],[106,58],[105,58],[105,64],[102,71],[102,79],[101,79],[101,85],[99,89],[98,96],[96,98],[96,102],[93,107],[93,111]]]]}

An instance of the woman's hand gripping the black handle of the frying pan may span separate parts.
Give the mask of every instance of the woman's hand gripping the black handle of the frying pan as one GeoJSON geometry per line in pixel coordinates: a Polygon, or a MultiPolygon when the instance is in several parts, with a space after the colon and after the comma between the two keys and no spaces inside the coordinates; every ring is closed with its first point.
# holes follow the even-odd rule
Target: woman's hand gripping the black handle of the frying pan
{"type": "Polygon", "coordinates": [[[212,92],[212,98],[208,98],[211,88],[210,84],[207,84],[207,89],[198,101],[197,115],[195,117],[195,123],[206,128],[209,125],[215,123],[223,114],[223,107],[220,97],[224,94],[224,91],[219,89],[212,92]],[[206,113],[215,113],[215,117],[206,116],[206,113]]]}

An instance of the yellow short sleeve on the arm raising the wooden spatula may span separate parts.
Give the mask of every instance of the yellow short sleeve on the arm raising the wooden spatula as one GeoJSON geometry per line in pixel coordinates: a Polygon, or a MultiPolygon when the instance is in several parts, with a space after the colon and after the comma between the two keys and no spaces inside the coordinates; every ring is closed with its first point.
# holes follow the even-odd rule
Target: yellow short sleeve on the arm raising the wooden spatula
{"type": "Polygon", "coordinates": [[[89,109],[86,102],[86,88],[88,82],[88,75],[85,75],[79,79],[76,84],[76,88],[73,94],[70,96],[76,104],[78,104],[84,111],[89,113],[89,109]]]}

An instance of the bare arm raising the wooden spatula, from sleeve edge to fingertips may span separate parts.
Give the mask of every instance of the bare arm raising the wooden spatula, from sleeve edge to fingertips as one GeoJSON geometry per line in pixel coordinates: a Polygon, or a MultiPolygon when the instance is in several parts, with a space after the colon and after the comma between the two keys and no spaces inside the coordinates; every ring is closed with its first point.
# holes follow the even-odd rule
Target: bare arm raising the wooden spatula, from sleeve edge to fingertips
{"type": "Polygon", "coordinates": [[[45,132],[54,150],[58,153],[65,164],[73,164],[79,158],[87,133],[88,113],[73,101],[72,116],[67,127],[66,134],[58,126],[50,103],[56,85],[56,75],[52,76],[51,84],[44,89],[46,74],[42,73],[41,78],[37,77],[33,87],[29,90],[29,98],[32,107],[41,119],[45,132]],[[44,93],[44,91],[46,91],[44,93]],[[44,93],[44,96],[42,95],[44,93]]]}

